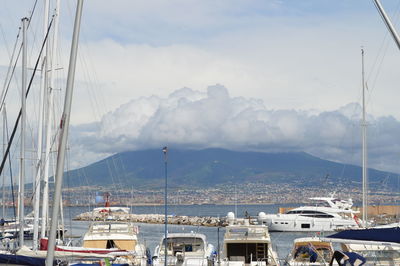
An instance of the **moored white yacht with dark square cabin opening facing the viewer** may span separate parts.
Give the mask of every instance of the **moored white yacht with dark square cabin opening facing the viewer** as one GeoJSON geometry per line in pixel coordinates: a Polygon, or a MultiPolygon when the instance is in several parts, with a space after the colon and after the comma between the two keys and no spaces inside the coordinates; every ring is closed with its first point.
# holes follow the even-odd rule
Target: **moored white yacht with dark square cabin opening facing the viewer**
{"type": "Polygon", "coordinates": [[[247,218],[237,219],[233,212],[229,212],[227,218],[229,225],[225,228],[220,265],[279,265],[266,225],[250,224],[247,218]]]}

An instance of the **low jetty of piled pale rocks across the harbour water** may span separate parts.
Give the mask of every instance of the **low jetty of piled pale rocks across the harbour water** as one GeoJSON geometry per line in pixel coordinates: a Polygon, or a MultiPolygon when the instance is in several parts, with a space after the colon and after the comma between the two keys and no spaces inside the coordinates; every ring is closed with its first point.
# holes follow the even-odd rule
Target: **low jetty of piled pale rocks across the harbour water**
{"type": "MultiPolygon", "coordinates": [[[[131,214],[131,213],[99,213],[85,212],[77,215],[75,221],[130,221],[135,223],[163,224],[163,214],[131,214]]],[[[201,216],[175,216],[168,215],[168,224],[194,225],[194,226],[226,226],[225,218],[201,216]]]]}

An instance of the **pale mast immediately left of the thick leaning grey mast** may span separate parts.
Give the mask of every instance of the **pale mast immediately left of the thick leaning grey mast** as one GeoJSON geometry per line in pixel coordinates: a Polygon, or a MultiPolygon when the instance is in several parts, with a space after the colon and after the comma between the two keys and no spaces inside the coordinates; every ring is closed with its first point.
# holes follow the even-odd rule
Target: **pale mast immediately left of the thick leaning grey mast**
{"type": "MultiPolygon", "coordinates": [[[[51,137],[52,137],[52,119],[53,119],[53,88],[54,88],[54,70],[55,70],[55,53],[58,44],[58,24],[60,15],[60,0],[57,0],[55,12],[54,12],[54,36],[52,43],[52,51],[50,58],[50,85],[46,87],[46,99],[47,99],[47,113],[46,113],[46,149],[43,158],[44,169],[43,169],[43,199],[42,199],[42,224],[41,224],[41,238],[46,237],[47,220],[49,213],[49,165],[50,165],[50,153],[51,153],[51,137]]],[[[48,52],[49,50],[47,50],[48,52]]]]}

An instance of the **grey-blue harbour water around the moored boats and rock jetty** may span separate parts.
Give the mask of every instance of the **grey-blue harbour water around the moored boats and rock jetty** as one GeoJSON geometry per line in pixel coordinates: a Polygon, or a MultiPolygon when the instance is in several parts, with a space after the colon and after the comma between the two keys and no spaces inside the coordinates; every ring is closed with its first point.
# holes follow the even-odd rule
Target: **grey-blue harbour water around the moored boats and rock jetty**
{"type": "MultiPolygon", "coordinates": [[[[277,213],[279,207],[295,207],[298,205],[172,205],[168,206],[168,215],[187,215],[187,216],[213,216],[225,217],[228,212],[235,212],[237,216],[244,217],[245,213],[252,217],[256,217],[259,212],[277,213]]],[[[90,222],[87,221],[73,221],[72,218],[76,215],[90,211],[89,207],[67,207],[64,208],[65,227],[68,230],[67,235],[76,236],[73,243],[76,245],[82,244],[81,237],[88,230],[90,222]]],[[[164,206],[133,206],[131,212],[136,214],[163,214],[164,206]]],[[[150,249],[151,253],[154,252],[155,247],[160,243],[161,237],[164,234],[163,224],[145,224],[138,223],[139,238],[150,249]]],[[[218,246],[218,228],[217,227],[204,227],[204,226],[183,226],[183,225],[168,225],[169,233],[179,232],[195,232],[207,236],[210,244],[213,244],[215,249],[218,246]]],[[[219,243],[222,249],[223,238],[225,229],[219,230],[219,243]]],[[[293,233],[293,232],[272,232],[271,241],[273,248],[277,251],[280,259],[286,258],[290,253],[293,240],[299,237],[313,236],[315,233],[293,233]]]]}

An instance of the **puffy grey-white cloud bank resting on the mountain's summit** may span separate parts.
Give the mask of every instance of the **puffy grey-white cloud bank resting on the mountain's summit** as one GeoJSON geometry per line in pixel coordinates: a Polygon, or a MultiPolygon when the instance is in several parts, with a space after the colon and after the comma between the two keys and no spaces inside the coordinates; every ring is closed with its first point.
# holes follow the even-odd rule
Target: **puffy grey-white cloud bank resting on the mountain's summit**
{"type": "MultiPolygon", "coordinates": [[[[360,164],[361,107],[334,111],[270,109],[254,98],[232,97],[222,85],[204,91],[182,88],[167,97],[140,97],[71,129],[75,166],[121,151],[159,148],[266,152],[305,151],[360,164]],[[80,156],[81,155],[81,156],[80,156]]],[[[400,122],[368,116],[370,165],[400,172],[400,122]]]]}

